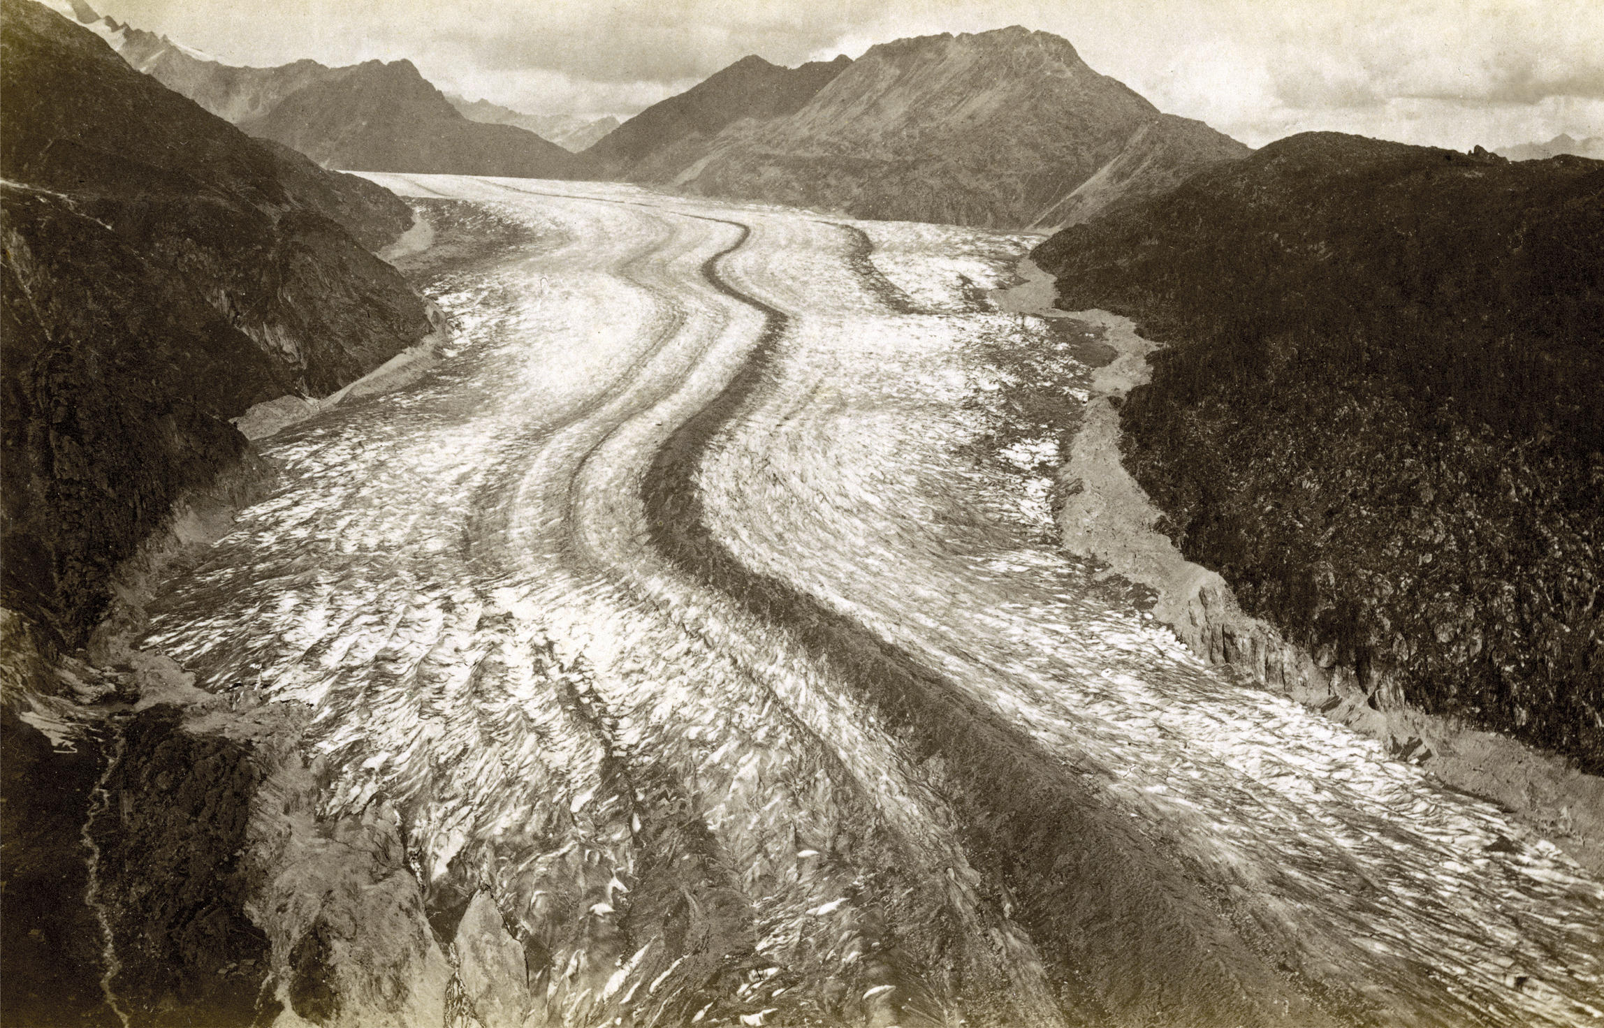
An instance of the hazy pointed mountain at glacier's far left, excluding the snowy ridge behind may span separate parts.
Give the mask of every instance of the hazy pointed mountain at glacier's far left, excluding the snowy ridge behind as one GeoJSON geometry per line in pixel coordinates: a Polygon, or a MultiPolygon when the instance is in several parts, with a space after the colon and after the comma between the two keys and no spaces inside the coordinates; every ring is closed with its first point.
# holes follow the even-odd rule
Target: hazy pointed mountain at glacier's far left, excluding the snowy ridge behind
{"type": "Polygon", "coordinates": [[[337,67],[239,127],[351,172],[573,178],[582,167],[533,132],[462,117],[411,61],[337,67]]]}

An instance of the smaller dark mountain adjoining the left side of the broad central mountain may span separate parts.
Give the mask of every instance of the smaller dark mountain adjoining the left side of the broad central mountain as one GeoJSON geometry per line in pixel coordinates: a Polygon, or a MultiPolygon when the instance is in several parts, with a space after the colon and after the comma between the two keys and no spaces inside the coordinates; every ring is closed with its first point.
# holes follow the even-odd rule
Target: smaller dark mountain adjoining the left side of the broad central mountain
{"type": "Polygon", "coordinates": [[[800,67],[741,58],[629,119],[587,149],[585,157],[613,178],[666,181],[699,159],[707,141],[727,125],[792,114],[850,64],[845,55],[800,67]]]}

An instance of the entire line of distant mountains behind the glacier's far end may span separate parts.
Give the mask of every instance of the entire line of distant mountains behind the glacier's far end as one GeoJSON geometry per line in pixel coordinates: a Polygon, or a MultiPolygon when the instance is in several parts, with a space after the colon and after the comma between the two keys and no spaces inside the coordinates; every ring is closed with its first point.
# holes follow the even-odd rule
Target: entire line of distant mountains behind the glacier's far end
{"type": "Polygon", "coordinates": [[[411,61],[234,67],[83,0],[47,2],[207,111],[345,170],[611,178],[860,218],[1055,229],[1250,152],[1094,72],[1067,40],[1017,26],[800,67],[747,56],[618,125],[448,96],[411,61]]]}

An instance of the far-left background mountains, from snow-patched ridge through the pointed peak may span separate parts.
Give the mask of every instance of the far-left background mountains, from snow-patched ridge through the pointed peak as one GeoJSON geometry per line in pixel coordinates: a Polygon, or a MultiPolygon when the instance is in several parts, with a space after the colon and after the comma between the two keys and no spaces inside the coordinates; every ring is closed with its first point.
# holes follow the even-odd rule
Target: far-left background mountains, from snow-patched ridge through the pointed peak
{"type": "Polygon", "coordinates": [[[128,64],[247,133],[351,172],[573,178],[582,162],[512,125],[460,115],[411,61],[327,67],[295,61],[236,67],[101,18],[83,0],[50,0],[104,38],[128,64]]]}

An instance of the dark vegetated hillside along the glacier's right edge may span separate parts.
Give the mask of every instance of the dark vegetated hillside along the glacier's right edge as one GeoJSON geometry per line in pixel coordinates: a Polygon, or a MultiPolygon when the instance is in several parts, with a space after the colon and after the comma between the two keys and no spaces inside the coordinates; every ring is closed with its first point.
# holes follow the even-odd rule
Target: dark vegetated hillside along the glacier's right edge
{"type": "Polygon", "coordinates": [[[1299,135],[1035,260],[1169,343],[1126,463],[1190,560],[1604,773],[1604,164],[1299,135]]]}

